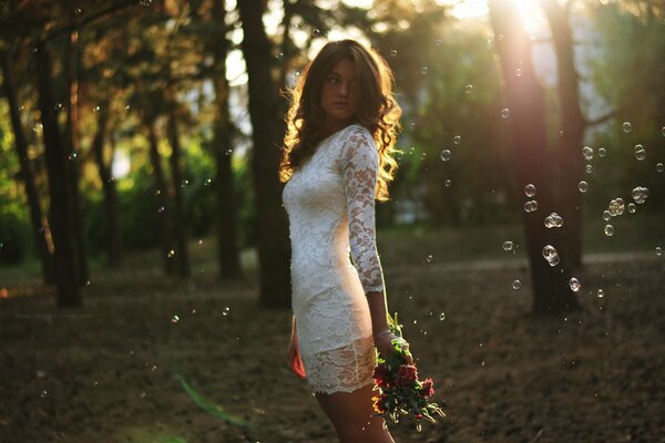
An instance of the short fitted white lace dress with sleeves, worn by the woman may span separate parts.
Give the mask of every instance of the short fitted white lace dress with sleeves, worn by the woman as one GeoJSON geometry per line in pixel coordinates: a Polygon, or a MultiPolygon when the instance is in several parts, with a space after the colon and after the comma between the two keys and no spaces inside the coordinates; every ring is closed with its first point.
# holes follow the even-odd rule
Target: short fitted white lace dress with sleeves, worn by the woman
{"type": "Polygon", "coordinates": [[[374,382],[376,351],[366,293],[383,291],[375,235],[378,168],[371,134],[354,124],[321,141],[284,187],[291,307],[315,392],[351,392],[374,382]]]}

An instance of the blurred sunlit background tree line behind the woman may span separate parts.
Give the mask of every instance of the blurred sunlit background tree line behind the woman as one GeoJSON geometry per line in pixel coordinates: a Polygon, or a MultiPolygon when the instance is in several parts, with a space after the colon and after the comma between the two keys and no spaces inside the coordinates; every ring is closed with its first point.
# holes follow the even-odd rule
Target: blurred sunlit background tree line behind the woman
{"type": "Polygon", "coordinates": [[[123,254],[160,248],[164,272],[185,278],[187,241],[213,236],[222,279],[239,278],[241,251],[256,247],[262,305],[287,307],[280,91],[311,51],[350,29],[390,63],[405,110],[393,203],[378,206],[379,228],[521,223],[534,309],[574,309],[569,279],[582,266],[586,214],[600,217],[620,196],[627,204],[636,186],[649,189],[640,212],[665,204],[665,4],[540,6],[546,41],[523,31],[508,0],[490,1],[477,21],[426,0],[369,10],[311,0],[2,2],[0,262],[38,257],[59,305],[76,306],[91,258],[117,267],[123,254]],[[575,33],[580,25],[587,31],[575,33]],[[554,84],[532,62],[539,44],[555,53],[554,84]],[[122,158],[131,168],[117,177],[122,158]],[[526,184],[533,213],[523,208],[526,184]],[[553,212],[561,229],[543,226],[553,212]],[[542,257],[548,244],[559,267],[542,257]]]}

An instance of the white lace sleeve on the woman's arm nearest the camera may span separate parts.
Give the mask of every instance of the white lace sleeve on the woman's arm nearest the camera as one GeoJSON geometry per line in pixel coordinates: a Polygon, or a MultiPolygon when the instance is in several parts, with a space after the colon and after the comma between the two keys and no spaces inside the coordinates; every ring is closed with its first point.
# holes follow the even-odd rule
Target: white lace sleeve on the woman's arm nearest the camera
{"type": "Polygon", "coordinates": [[[379,152],[369,132],[354,128],[345,137],[338,166],[344,181],[349,218],[349,245],[365,293],[383,291],[377,253],[375,188],[379,152]]]}

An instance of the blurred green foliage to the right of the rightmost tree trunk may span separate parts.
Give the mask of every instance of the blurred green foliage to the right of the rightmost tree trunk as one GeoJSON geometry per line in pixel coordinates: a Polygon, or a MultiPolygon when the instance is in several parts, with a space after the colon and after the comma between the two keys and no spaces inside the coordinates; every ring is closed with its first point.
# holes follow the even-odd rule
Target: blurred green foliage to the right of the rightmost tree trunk
{"type": "Polygon", "coordinates": [[[616,119],[595,133],[594,173],[587,176],[594,210],[602,212],[611,198],[631,202],[631,189],[646,186],[649,197],[640,210],[665,208],[665,20],[634,16],[611,2],[597,4],[594,14],[600,32],[600,56],[594,63],[594,85],[617,111],[616,119]],[[631,130],[624,131],[628,122],[631,130]],[[635,146],[643,145],[646,158],[638,161],[635,146]],[[606,150],[598,157],[597,148],[606,150]]]}

